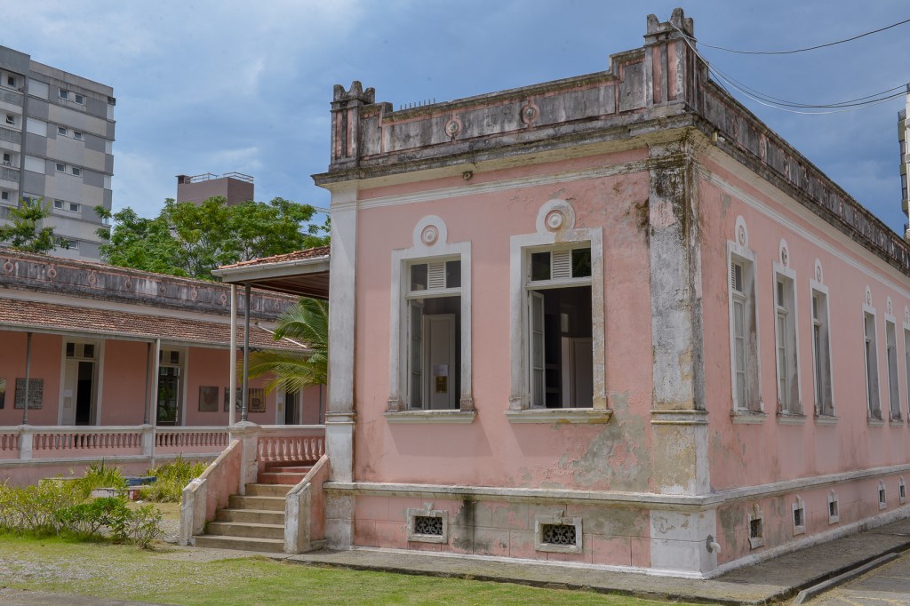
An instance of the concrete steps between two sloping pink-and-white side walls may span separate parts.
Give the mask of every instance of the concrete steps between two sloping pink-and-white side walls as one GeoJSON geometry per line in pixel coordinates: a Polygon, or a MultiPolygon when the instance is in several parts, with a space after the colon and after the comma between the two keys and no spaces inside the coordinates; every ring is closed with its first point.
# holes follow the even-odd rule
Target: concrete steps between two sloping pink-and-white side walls
{"type": "Polygon", "coordinates": [[[307,463],[268,464],[246,495],[232,495],[227,508],[215,512],[197,547],[223,550],[284,551],[285,497],[307,475],[307,463]]]}

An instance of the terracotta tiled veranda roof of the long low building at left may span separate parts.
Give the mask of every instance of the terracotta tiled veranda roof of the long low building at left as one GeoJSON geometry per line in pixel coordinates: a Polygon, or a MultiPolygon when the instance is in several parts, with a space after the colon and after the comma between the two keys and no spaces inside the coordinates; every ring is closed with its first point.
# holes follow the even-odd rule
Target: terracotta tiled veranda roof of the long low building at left
{"type": "MultiPolygon", "coordinates": [[[[201,346],[230,345],[229,322],[168,318],[112,309],[80,308],[55,303],[0,298],[0,328],[46,328],[59,332],[91,333],[98,336],[161,338],[169,342],[201,346]]],[[[243,343],[243,324],[238,323],[238,344],[243,343]]],[[[252,348],[299,349],[276,341],[262,328],[251,327],[252,348]]]]}

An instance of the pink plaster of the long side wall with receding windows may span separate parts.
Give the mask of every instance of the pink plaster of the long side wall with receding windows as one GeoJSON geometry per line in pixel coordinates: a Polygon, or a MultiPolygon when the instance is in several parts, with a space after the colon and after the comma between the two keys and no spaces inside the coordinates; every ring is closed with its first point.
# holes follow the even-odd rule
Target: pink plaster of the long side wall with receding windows
{"type": "MultiPolygon", "coordinates": [[[[907,383],[904,364],[904,310],[910,293],[891,285],[906,284],[906,277],[879,258],[854,244],[833,229],[820,227],[806,213],[794,211],[793,204],[769,199],[731,176],[712,167],[725,180],[733,182],[749,196],[762,200],[785,218],[775,221],[730,197],[724,204],[718,187],[702,182],[702,268],[705,318],[705,385],[709,415],[709,457],[714,490],[736,486],[794,480],[849,470],[864,470],[910,462],[910,428],[906,425],[907,383]],[[764,411],[767,418],[757,425],[733,424],[730,418],[732,388],[730,375],[730,333],[728,315],[729,268],[726,242],[733,239],[734,223],[742,216],[748,227],[749,247],[755,254],[759,354],[764,411]],[[821,238],[848,263],[828,250],[810,242],[804,234],[821,238]],[[777,420],[777,388],[774,358],[773,267],[778,247],[784,238],[789,246],[790,267],[796,272],[797,331],[799,334],[799,373],[805,421],[798,425],[777,420]],[[824,285],[829,288],[828,308],[835,426],[814,420],[814,367],[812,349],[812,309],[810,278],[818,258],[824,269],[824,285]],[[889,284],[885,283],[890,282],[889,284]],[[870,427],[864,371],[863,303],[865,288],[872,290],[878,347],[880,402],[885,424],[870,427]],[[897,374],[904,422],[889,424],[888,374],[885,362],[886,299],[893,302],[896,318],[897,374]]],[[[877,499],[870,491],[869,499],[877,499]]]]}

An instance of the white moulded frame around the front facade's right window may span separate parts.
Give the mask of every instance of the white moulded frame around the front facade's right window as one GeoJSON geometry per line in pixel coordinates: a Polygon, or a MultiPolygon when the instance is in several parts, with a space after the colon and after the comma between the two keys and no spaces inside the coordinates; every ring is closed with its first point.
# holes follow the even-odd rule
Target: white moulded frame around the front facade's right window
{"type": "Polygon", "coordinates": [[[565,200],[550,200],[538,212],[537,233],[510,238],[510,352],[511,396],[509,419],[513,422],[541,422],[560,417],[568,422],[609,420],[612,411],[607,407],[604,345],[603,296],[603,231],[601,227],[575,227],[575,211],[565,200]],[[554,227],[555,226],[555,227],[554,227]],[[591,347],[592,393],[591,408],[532,409],[530,339],[531,322],[528,305],[528,258],[537,252],[557,245],[591,247],[591,347]]]}

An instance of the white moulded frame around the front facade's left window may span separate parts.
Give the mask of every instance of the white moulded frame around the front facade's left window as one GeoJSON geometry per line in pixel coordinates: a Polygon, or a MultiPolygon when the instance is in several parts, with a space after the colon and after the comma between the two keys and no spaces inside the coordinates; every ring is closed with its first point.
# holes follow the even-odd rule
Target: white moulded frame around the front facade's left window
{"type": "MultiPolygon", "coordinates": [[[[414,227],[411,247],[392,250],[391,318],[389,321],[389,422],[470,422],[474,419],[471,388],[471,260],[470,241],[449,242],[445,221],[435,215],[423,217],[414,227]],[[461,261],[460,394],[456,409],[408,409],[408,289],[410,266],[418,261],[461,261]]],[[[426,292],[426,291],[421,291],[426,292]]]]}

